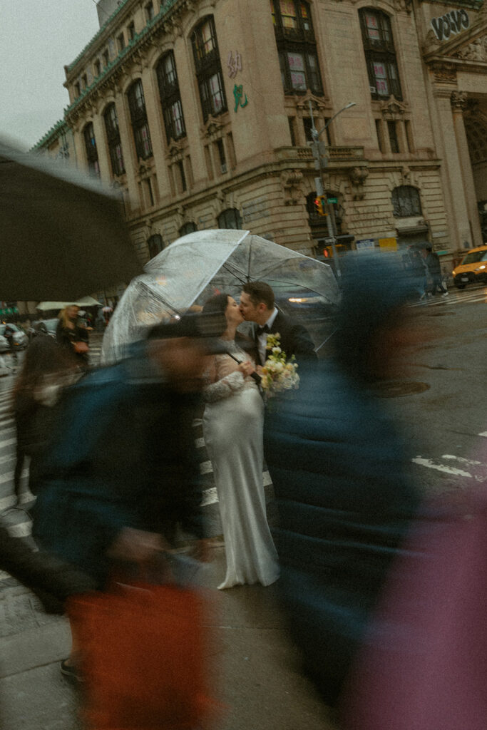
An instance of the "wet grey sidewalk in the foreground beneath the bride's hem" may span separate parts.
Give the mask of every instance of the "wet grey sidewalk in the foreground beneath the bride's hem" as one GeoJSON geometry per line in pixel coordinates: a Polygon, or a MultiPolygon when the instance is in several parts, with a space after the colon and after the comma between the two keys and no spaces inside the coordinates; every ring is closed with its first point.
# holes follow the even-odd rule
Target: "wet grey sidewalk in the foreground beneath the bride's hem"
{"type": "MultiPolygon", "coordinates": [[[[207,571],[223,580],[223,548],[207,571]]],[[[272,586],[215,591],[216,696],[226,705],[215,730],[334,730],[299,674],[272,586]]],[[[26,588],[0,593],[0,727],[81,730],[77,692],[61,676],[70,648],[66,619],[46,615],[26,588]]]]}

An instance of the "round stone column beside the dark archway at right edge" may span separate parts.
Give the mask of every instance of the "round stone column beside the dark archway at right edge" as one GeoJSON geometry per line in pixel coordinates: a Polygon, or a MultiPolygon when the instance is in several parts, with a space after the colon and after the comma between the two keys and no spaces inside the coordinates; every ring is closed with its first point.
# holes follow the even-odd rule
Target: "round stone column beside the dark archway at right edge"
{"type": "Polygon", "coordinates": [[[454,91],[451,95],[451,108],[453,114],[453,126],[455,128],[456,145],[458,148],[461,176],[467,214],[469,217],[472,244],[482,245],[482,231],[480,229],[480,218],[477,209],[477,193],[472,174],[472,163],[470,161],[467,132],[465,131],[464,110],[468,104],[468,96],[464,91],[454,91]]]}

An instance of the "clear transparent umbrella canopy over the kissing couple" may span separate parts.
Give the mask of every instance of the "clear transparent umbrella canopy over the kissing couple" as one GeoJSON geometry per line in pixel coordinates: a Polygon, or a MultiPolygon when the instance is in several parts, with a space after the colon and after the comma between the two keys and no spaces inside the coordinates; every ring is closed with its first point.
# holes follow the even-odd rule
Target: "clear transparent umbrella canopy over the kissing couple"
{"type": "Polygon", "coordinates": [[[249,231],[194,231],[158,253],[144,270],[123,293],[105,331],[103,361],[123,357],[148,326],[200,307],[214,293],[238,297],[248,281],[265,280],[275,289],[297,287],[329,304],[340,299],[330,266],[249,231]]]}

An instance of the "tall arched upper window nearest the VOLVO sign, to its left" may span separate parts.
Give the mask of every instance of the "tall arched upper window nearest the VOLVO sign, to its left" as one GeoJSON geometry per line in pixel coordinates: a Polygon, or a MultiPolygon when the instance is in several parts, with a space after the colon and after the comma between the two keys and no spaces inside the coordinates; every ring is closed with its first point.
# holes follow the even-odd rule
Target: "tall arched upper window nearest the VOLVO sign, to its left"
{"type": "Polygon", "coordinates": [[[402,99],[389,16],[369,7],[358,12],[372,99],[384,99],[391,94],[402,99]]]}

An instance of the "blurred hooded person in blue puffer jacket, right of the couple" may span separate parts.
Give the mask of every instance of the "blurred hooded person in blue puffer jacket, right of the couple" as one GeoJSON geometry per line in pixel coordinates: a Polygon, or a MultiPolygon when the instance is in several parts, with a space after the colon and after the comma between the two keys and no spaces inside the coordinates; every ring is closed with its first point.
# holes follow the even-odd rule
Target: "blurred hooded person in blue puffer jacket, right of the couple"
{"type": "Polygon", "coordinates": [[[347,257],[334,357],[302,366],[299,398],[266,417],[278,585],[305,672],[331,706],[418,509],[402,439],[377,398],[415,338],[402,310],[410,293],[410,274],[388,255],[347,257]]]}

